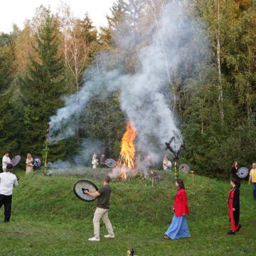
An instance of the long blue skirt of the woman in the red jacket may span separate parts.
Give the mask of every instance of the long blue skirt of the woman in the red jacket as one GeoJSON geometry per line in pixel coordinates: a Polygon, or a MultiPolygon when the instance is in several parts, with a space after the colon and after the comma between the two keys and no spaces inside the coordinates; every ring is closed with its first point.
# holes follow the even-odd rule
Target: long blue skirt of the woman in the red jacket
{"type": "Polygon", "coordinates": [[[172,240],[190,236],[188,224],[186,223],[186,216],[176,217],[174,214],[174,218],[171,220],[171,225],[164,235],[168,235],[172,240]]]}

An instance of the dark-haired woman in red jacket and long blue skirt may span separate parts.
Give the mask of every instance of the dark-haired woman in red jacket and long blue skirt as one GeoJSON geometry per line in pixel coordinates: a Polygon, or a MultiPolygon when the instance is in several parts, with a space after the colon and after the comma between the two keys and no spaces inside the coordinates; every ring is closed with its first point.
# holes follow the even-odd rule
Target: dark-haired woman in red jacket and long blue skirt
{"type": "Polygon", "coordinates": [[[175,194],[174,218],[171,220],[168,230],[164,233],[164,238],[171,240],[191,236],[186,223],[186,214],[189,214],[189,210],[185,186],[181,178],[177,178],[175,184],[178,190],[175,194]]]}

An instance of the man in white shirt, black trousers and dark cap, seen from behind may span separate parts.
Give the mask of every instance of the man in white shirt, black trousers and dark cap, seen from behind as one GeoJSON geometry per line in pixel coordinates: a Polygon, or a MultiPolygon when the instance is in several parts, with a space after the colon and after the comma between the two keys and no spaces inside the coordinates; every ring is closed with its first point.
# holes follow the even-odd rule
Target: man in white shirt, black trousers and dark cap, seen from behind
{"type": "Polygon", "coordinates": [[[0,174],[0,208],[4,205],[4,220],[9,222],[11,218],[11,197],[13,188],[18,186],[16,175],[13,174],[12,164],[7,164],[6,172],[0,174]]]}

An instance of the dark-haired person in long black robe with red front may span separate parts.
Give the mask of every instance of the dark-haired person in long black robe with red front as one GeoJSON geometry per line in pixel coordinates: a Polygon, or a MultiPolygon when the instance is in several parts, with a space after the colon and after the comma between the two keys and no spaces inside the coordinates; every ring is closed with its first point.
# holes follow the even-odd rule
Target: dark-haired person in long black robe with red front
{"type": "Polygon", "coordinates": [[[239,225],[240,215],[240,203],[239,203],[239,182],[238,178],[232,178],[230,181],[232,186],[228,192],[228,215],[231,223],[231,230],[228,235],[235,235],[236,231],[239,231],[242,225],[239,225]]]}

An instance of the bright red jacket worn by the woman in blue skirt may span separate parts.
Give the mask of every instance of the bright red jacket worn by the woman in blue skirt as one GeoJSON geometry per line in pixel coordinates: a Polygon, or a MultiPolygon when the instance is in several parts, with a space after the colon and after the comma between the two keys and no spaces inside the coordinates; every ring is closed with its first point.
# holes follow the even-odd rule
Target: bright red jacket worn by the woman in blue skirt
{"type": "Polygon", "coordinates": [[[174,211],[176,217],[181,217],[183,214],[189,214],[188,201],[186,198],[185,189],[178,189],[175,194],[174,211]]]}

